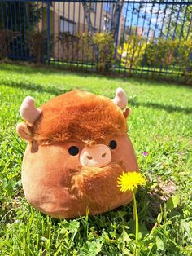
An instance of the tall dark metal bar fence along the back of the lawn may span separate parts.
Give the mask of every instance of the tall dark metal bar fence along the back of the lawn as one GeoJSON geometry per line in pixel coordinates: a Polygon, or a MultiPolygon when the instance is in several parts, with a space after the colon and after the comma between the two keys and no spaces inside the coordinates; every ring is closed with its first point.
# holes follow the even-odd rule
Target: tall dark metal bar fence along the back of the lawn
{"type": "Polygon", "coordinates": [[[0,60],[192,83],[191,1],[0,0],[0,60]]]}

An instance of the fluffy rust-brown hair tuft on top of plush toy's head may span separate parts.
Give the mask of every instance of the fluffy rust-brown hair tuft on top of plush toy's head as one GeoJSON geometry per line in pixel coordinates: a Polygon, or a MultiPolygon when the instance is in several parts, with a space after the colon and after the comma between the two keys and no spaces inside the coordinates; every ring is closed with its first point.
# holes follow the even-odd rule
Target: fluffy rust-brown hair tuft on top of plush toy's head
{"type": "Polygon", "coordinates": [[[79,139],[85,143],[126,133],[121,109],[111,99],[73,90],[41,106],[41,116],[33,126],[37,143],[79,139]]]}

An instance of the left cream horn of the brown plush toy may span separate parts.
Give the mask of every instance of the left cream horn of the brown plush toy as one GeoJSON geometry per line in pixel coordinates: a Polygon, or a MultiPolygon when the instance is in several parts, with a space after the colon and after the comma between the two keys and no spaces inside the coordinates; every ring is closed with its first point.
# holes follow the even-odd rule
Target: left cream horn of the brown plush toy
{"type": "Polygon", "coordinates": [[[35,100],[27,96],[20,106],[20,116],[28,123],[33,125],[41,114],[41,109],[35,108],[35,100]]]}

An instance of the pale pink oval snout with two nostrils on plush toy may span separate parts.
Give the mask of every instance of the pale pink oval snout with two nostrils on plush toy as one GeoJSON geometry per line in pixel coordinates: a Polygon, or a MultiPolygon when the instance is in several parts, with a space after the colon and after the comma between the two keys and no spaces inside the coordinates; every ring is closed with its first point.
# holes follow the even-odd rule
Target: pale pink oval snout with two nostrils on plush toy
{"type": "Polygon", "coordinates": [[[103,144],[85,147],[81,151],[80,162],[82,166],[107,166],[111,162],[111,151],[103,144]]]}

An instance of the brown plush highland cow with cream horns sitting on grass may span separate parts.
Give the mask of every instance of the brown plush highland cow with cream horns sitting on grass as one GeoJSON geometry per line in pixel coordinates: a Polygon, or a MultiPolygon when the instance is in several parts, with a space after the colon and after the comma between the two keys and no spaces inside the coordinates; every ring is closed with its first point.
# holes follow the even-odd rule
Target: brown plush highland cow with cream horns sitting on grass
{"type": "Polygon", "coordinates": [[[122,172],[138,171],[127,135],[129,108],[124,90],[115,99],[74,90],[36,108],[21,104],[17,133],[28,142],[22,183],[28,202],[55,218],[100,214],[128,204],[120,192],[122,172]]]}

